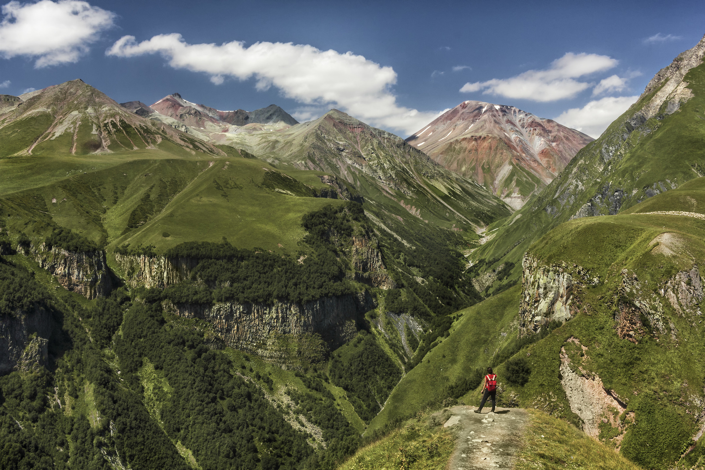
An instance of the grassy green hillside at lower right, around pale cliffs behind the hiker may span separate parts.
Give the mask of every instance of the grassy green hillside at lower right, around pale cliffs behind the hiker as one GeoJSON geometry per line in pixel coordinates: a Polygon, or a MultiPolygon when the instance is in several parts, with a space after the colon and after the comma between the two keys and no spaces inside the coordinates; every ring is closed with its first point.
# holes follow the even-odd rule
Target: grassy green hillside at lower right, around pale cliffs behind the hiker
{"type": "MultiPolygon", "coordinates": [[[[705,200],[703,180],[658,194],[633,209],[699,212],[705,200]]],[[[601,425],[600,440],[612,447],[621,442],[620,453],[646,468],[666,468],[687,450],[699,427],[695,417],[701,412],[705,385],[705,363],[699,359],[705,354],[701,301],[696,296],[694,305],[680,304],[678,311],[668,299],[667,291],[673,288],[668,283],[673,285],[678,273],[702,263],[704,240],[705,221],[689,216],[637,213],[558,225],[532,245],[529,254],[541,265],[565,266],[568,272],[571,266],[582,266],[591,278],[599,278],[598,285],[575,288],[572,319],[517,342],[520,286],[466,309],[450,336],[397,385],[370,429],[384,428],[427,404],[438,404],[448,397],[449,383],[470,376],[477,366],[491,364],[500,377],[499,403],[537,407],[580,425],[560,379],[564,348],[572,370],[580,376],[599,377],[602,386],[627,407],[620,427],[601,425]],[[644,302],[651,309],[660,305],[661,313],[640,308],[644,302]],[[629,311],[637,312],[630,320],[633,340],[619,334],[620,322],[629,311]],[[577,347],[572,338],[587,350],[577,347]],[[497,365],[498,360],[502,364],[497,365]],[[508,369],[510,363],[527,367],[526,383],[517,381],[508,369]],[[645,450],[646,443],[654,448],[645,450]]],[[[687,283],[683,283],[685,289],[687,283]]],[[[460,400],[477,404],[479,387],[460,400]]]]}

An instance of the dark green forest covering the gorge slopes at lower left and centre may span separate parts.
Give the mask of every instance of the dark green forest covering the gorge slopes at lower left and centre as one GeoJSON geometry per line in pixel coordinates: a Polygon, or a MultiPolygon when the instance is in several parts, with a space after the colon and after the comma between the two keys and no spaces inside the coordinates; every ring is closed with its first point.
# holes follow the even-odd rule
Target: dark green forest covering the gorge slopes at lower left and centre
{"type": "MultiPolygon", "coordinates": [[[[288,410],[266,397],[274,390],[269,376],[251,367],[252,378],[240,375],[245,365],[212,349],[205,330],[167,320],[161,302],[271,304],[357,292],[361,286],[349,276],[353,236],[379,239],[399,285],[383,294],[386,309],[412,314],[434,330],[422,335],[419,354],[447,331],[451,312],[478,296],[463,280],[460,253],[433,247],[457,245],[452,233],[422,230],[413,236],[426,237],[426,248],[419,243],[410,251],[374,232],[357,202],[306,214],[302,227],[307,235],[296,256],[240,249],[224,239],[187,242],[164,253],[197,260],[186,282],[164,290],[118,287],[92,302],[63,289],[49,291],[33,271],[0,256],[0,316],[45,311],[54,332],[46,338],[47,364],[0,377],[0,468],[188,469],[189,454],[180,449],[204,470],[336,468],[362,438],[325,383],[343,388],[369,423],[403,372],[364,330],[369,326],[350,343],[350,354],[336,356],[322,344],[315,359],[299,358],[304,387],[286,393],[297,412],[321,428],[326,447],[313,447],[286,422],[288,410]],[[417,283],[415,273],[428,282],[417,283]],[[157,382],[147,380],[147,371],[157,382]]],[[[27,250],[30,238],[20,233],[17,240],[27,250]]],[[[101,249],[63,228],[53,228],[44,243],[71,252],[101,249]]],[[[6,233],[0,249],[15,254],[6,233]]],[[[157,256],[152,245],[124,245],[116,252],[157,256]]]]}

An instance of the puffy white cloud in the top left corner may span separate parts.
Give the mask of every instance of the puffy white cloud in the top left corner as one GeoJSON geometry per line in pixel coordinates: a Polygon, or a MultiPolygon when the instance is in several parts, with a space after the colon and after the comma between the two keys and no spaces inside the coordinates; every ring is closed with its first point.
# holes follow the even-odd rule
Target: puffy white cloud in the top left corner
{"type": "Polygon", "coordinates": [[[115,19],[115,13],[79,0],[11,1],[2,14],[0,56],[37,57],[35,68],[77,62],[115,19]]]}

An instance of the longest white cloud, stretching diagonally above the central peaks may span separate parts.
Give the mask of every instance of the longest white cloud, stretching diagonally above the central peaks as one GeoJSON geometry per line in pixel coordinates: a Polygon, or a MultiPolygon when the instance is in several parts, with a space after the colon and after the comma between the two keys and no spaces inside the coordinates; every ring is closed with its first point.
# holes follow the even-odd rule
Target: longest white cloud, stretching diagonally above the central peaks
{"type": "Polygon", "coordinates": [[[393,68],[352,52],[341,54],[332,49],[321,51],[309,45],[281,42],[257,42],[250,47],[238,41],[188,44],[174,33],[154,36],[139,44],[134,36],[124,36],[106,54],[161,54],[173,68],[207,73],[216,84],[226,77],[255,78],[258,90],[274,86],[284,97],[301,104],[335,107],[369,124],[407,135],[440,115],[399,106],[391,90],[397,79],[393,68]]]}

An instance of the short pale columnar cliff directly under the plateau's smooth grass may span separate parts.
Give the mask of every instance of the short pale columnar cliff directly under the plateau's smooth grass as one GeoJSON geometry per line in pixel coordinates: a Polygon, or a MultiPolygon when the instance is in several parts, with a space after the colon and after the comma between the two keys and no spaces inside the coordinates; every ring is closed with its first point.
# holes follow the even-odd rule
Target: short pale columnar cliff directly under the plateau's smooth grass
{"type": "Polygon", "coordinates": [[[191,258],[166,258],[146,254],[115,253],[115,261],[125,273],[125,282],[132,287],[144,285],[168,287],[187,280],[200,260],[191,258]]]}

